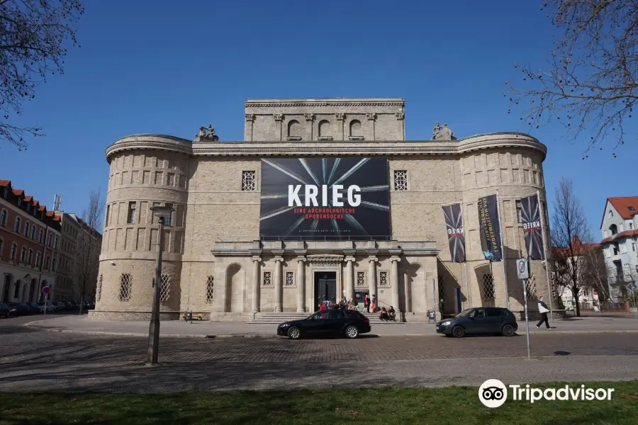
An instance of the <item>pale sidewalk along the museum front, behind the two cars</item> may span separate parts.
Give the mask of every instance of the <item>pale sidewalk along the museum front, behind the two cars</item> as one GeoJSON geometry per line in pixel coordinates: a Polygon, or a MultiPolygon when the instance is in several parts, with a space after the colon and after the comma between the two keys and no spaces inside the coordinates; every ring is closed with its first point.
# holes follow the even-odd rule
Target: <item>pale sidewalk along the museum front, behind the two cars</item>
{"type": "MultiPolygon", "coordinates": [[[[113,335],[113,336],[148,336],[148,322],[106,322],[91,320],[88,316],[52,317],[43,321],[33,317],[33,322],[25,326],[37,327],[50,331],[69,334],[113,335]]],[[[530,323],[530,334],[595,334],[595,333],[638,333],[638,320],[629,317],[570,317],[556,319],[550,323],[552,329],[536,329],[530,323]]],[[[518,323],[518,334],[525,333],[525,322],[518,323]]],[[[276,337],[274,324],[250,324],[235,322],[200,322],[192,324],[181,320],[162,322],[162,336],[176,338],[224,338],[232,336],[244,337],[276,337]]],[[[436,336],[434,324],[374,324],[371,334],[378,336],[436,336]]]]}

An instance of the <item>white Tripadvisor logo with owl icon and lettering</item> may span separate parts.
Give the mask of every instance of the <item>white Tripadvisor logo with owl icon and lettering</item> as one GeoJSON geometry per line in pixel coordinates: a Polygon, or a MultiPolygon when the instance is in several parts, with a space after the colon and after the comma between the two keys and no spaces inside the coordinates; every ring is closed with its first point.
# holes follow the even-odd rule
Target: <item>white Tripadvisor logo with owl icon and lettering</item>
{"type": "MultiPolygon", "coordinates": [[[[570,387],[565,385],[560,388],[537,388],[527,385],[508,385],[509,395],[513,401],[538,402],[540,400],[565,401],[580,400],[591,402],[593,400],[611,400],[613,388],[589,388],[585,385],[570,387]]],[[[508,399],[508,387],[498,379],[488,379],[478,388],[478,399],[484,406],[495,408],[503,406],[508,399]]]]}

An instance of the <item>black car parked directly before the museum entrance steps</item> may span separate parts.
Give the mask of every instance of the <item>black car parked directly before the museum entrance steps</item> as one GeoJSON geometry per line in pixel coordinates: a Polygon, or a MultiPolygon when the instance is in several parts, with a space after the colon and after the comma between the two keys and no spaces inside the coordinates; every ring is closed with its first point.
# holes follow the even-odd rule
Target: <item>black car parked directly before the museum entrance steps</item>
{"type": "Polygon", "coordinates": [[[284,322],[277,327],[277,335],[300,339],[301,336],[340,336],[357,338],[371,330],[367,317],[354,310],[325,310],[306,319],[284,322]]]}

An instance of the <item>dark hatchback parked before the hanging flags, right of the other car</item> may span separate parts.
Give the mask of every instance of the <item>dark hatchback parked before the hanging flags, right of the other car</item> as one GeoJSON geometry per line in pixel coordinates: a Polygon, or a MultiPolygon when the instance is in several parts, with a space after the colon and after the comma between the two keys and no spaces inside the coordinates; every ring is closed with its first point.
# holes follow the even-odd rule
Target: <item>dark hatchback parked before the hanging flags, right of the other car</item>
{"type": "Polygon", "coordinates": [[[465,335],[500,334],[514,336],[518,329],[513,312],[500,307],[469,308],[437,323],[437,334],[462,338],[465,335]]]}

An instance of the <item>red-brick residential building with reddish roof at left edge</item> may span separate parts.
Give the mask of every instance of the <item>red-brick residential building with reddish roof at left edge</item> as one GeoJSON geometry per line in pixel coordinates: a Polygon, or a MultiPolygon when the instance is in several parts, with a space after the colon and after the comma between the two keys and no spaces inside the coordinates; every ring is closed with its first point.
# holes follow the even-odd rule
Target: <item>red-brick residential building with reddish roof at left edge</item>
{"type": "Polygon", "coordinates": [[[0,180],[0,302],[38,302],[44,286],[55,293],[60,237],[60,217],[0,180]]]}

